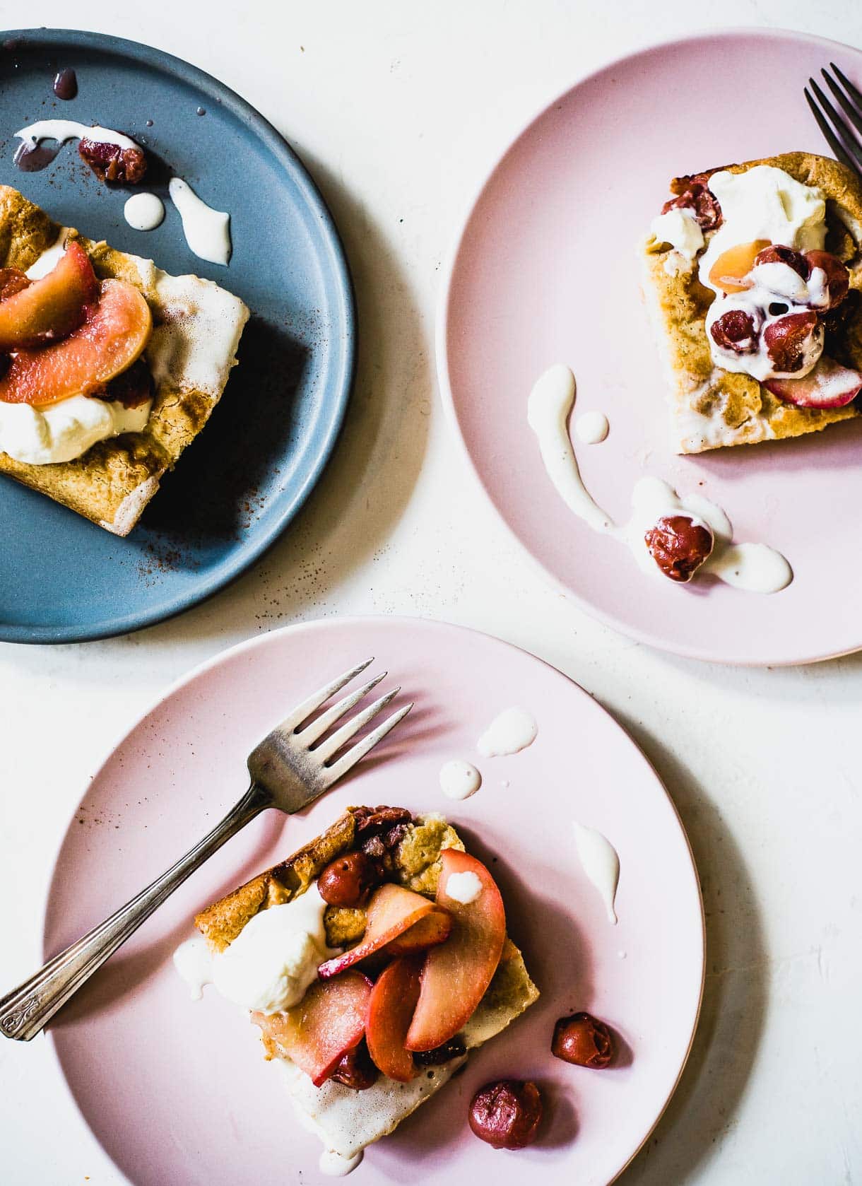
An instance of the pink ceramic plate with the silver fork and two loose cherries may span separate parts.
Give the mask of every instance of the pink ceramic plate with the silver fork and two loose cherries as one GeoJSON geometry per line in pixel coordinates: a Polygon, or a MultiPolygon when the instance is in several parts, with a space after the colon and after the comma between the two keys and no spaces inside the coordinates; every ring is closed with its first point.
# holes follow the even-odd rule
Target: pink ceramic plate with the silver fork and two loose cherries
{"type": "Polygon", "coordinates": [[[406,619],[314,623],[202,668],[132,729],[84,796],[55,869],[45,956],[196,841],[244,790],[254,744],[311,689],[368,655],[415,699],[404,726],[304,817],[268,811],[230,841],[57,1018],[51,1033],[72,1095],[138,1186],[321,1180],[320,1143],[296,1122],[257,1031],[212,989],[190,1001],[171,954],[197,910],[345,805],[403,804],[446,812],[492,862],[543,995],[369,1149],[353,1181],[451,1186],[491,1173],[513,1186],[525,1175],[561,1181],[564,1169],[580,1186],[601,1186],[646,1139],[685,1061],[703,973],[697,878],[673,806],[626,734],[558,671],[485,635],[406,619]],[[479,734],[511,704],[535,714],[536,741],[510,758],[479,759],[479,734]],[[485,776],[464,803],[443,798],[438,784],[449,758],[472,758],[485,776]],[[619,850],[618,926],[580,869],[573,818],[619,850]],[[618,1029],[622,1065],[588,1071],[550,1056],[555,1019],[582,1008],[618,1029]],[[518,1154],[483,1144],[466,1123],[475,1089],[504,1075],[535,1077],[548,1092],[550,1121],[518,1154]]]}

